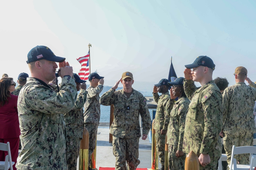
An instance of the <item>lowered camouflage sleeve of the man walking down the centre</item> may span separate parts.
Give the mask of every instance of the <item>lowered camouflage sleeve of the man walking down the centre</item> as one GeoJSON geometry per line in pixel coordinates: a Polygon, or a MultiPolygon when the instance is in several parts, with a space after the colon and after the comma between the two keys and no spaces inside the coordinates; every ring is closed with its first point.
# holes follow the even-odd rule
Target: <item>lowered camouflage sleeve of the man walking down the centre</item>
{"type": "Polygon", "coordinates": [[[140,115],[142,118],[142,134],[148,134],[151,128],[151,118],[147,107],[147,99],[144,97],[140,102],[140,115]]]}

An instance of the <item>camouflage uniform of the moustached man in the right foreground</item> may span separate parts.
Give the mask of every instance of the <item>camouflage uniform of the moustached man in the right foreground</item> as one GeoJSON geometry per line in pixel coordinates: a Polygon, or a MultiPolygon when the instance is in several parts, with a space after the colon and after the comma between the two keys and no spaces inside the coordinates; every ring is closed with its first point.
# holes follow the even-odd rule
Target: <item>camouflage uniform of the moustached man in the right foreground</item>
{"type": "Polygon", "coordinates": [[[208,154],[211,162],[200,169],[216,169],[222,144],[219,133],[222,128],[222,96],[214,81],[197,89],[193,80],[184,80],[184,90],[191,100],[186,117],[183,148],[193,150],[197,156],[208,154]]]}

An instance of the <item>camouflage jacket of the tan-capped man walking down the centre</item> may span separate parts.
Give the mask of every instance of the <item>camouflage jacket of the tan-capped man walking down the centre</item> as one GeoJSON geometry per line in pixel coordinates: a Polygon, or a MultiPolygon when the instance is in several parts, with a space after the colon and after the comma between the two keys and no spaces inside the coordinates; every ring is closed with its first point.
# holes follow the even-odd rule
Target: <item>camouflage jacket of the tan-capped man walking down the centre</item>
{"type": "Polygon", "coordinates": [[[142,133],[148,134],[151,128],[151,118],[147,107],[147,99],[133,89],[129,99],[124,90],[115,91],[112,88],[100,98],[104,106],[114,105],[114,120],[110,133],[120,138],[135,138],[141,136],[139,114],[142,118],[142,133]]]}

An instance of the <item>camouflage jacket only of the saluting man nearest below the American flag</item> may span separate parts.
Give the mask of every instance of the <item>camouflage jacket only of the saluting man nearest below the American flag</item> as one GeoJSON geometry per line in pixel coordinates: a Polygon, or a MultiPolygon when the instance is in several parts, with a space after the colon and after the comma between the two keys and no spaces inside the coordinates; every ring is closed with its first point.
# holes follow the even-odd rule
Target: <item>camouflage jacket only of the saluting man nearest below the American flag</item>
{"type": "Polygon", "coordinates": [[[97,87],[90,86],[87,91],[87,100],[84,104],[84,123],[99,124],[100,121],[100,92],[103,86],[99,84],[97,87]]]}

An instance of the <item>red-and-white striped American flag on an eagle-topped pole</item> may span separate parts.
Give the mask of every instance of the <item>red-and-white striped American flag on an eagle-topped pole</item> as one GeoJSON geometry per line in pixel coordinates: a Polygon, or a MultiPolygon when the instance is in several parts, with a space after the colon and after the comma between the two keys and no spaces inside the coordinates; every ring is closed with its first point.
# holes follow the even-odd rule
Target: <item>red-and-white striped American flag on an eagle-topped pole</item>
{"type": "Polygon", "coordinates": [[[88,80],[88,76],[90,74],[90,71],[89,71],[89,56],[90,56],[90,53],[88,51],[88,54],[86,56],[77,58],[78,62],[82,66],[82,68],[78,72],[78,75],[79,75],[80,79],[82,79],[82,80],[88,80]]]}

